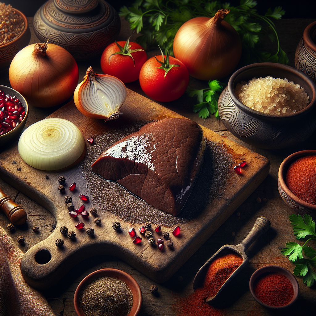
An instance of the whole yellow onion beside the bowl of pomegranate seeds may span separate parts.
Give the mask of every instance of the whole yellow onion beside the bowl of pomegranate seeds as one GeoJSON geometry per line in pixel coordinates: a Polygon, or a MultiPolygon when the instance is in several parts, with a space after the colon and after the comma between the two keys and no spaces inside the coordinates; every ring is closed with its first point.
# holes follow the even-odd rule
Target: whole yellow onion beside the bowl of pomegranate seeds
{"type": "Polygon", "coordinates": [[[78,65],[64,48],[47,43],[24,47],[13,58],[9,80],[31,104],[58,105],[73,94],[78,84],[78,65]]]}

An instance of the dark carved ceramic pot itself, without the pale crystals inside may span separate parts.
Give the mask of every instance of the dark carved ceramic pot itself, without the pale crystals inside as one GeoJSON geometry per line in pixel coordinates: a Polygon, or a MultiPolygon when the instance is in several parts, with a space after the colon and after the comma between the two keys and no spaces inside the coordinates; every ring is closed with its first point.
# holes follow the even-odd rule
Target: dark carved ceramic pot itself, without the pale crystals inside
{"type": "Polygon", "coordinates": [[[312,135],[316,128],[315,103],[316,86],[301,71],[283,64],[259,63],[240,68],[230,77],[218,100],[218,112],[228,131],[243,142],[265,149],[283,149],[312,135]],[[289,115],[261,113],[242,104],[234,93],[237,83],[266,76],[299,84],[306,90],[309,104],[289,115]]]}

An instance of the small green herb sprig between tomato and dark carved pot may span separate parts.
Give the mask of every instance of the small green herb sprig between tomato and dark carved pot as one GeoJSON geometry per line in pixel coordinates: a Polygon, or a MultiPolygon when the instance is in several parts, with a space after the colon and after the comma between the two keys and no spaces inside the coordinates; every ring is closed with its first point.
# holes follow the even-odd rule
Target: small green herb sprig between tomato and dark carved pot
{"type": "Polygon", "coordinates": [[[211,114],[215,114],[216,119],[219,119],[217,101],[220,96],[220,92],[223,90],[221,84],[218,80],[210,80],[209,88],[187,88],[186,92],[190,97],[197,96],[197,101],[199,103],[193,106],[193,111],[198,112],[198,116],[200,118],[207,119],[211,114]]]}

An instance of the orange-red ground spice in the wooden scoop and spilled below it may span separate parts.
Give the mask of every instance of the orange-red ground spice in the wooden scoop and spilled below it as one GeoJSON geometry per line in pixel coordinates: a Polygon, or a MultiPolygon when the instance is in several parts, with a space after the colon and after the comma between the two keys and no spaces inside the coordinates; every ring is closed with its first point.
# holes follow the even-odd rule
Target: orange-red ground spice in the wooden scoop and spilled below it
{"type": "Polygon", "coordinates": [[[242,264],[243,258],[234,253],[229,253],[215,259],[206,273],[202,288],[185,299],[180,299],[173,306],[177,316],[222,316],[224,309],[211,306],[207,298],[216,295],[220,287],[230,275],[242,264]]]}

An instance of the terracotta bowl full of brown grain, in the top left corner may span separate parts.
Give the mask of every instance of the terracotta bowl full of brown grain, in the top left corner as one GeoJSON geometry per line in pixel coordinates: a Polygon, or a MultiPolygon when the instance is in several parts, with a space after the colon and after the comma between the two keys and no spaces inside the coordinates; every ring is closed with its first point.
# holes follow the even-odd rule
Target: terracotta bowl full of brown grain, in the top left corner
{"type": "Polygon", "coordinates": [[[26,16],[10,4],[0,3],[0,71],[9,68],[12,59],[31,39],[26,16]]]}

